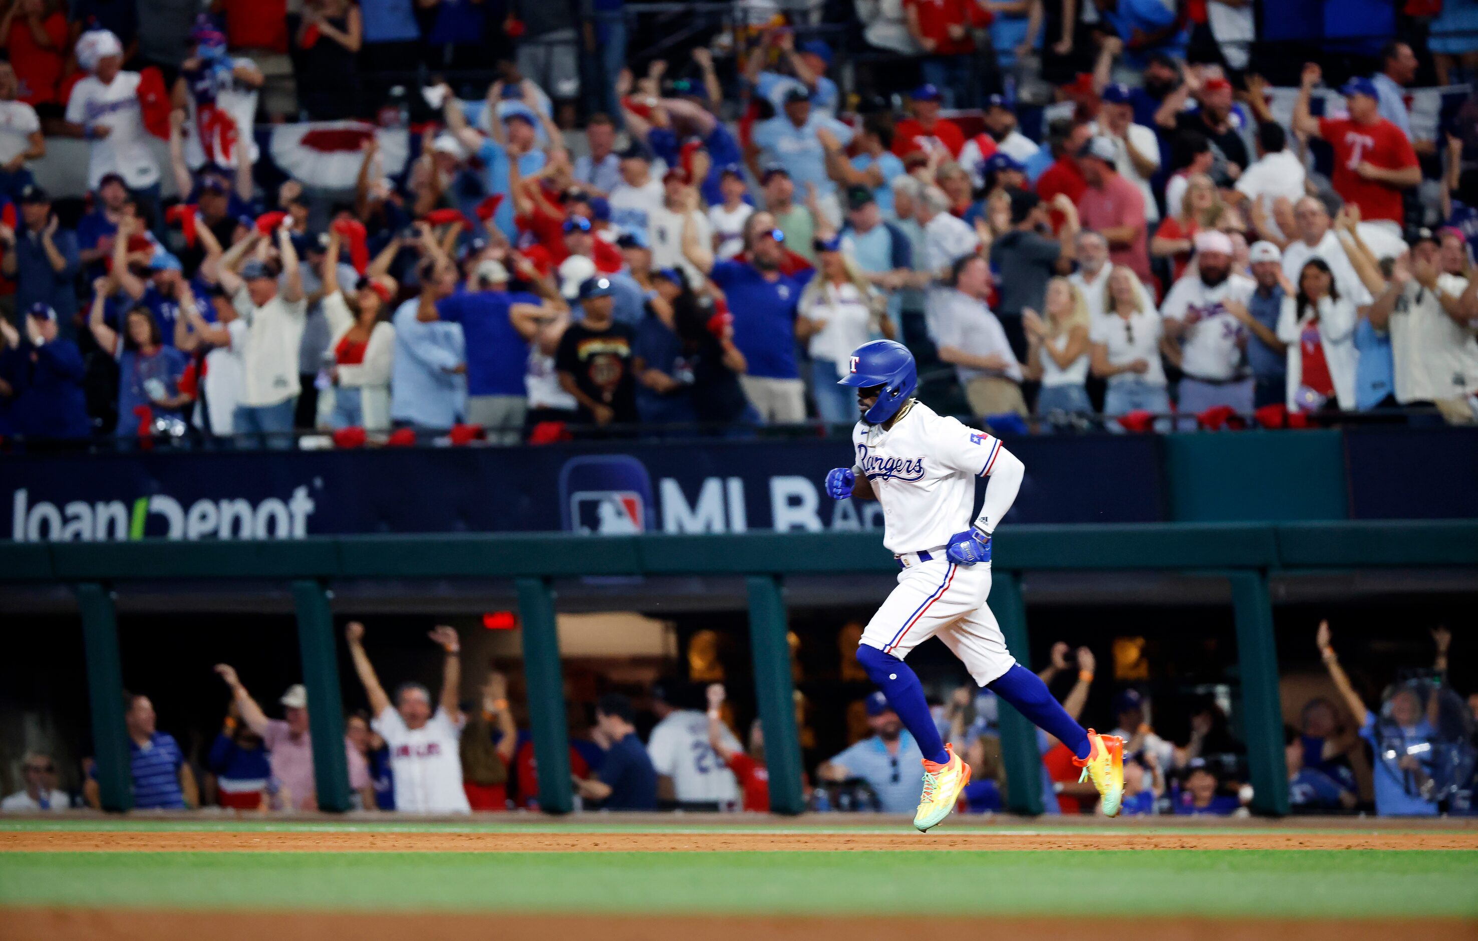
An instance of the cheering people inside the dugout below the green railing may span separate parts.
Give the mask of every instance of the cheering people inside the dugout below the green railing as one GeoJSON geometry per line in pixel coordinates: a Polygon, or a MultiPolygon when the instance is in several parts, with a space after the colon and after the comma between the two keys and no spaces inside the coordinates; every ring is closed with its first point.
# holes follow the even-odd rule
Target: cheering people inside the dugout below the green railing
{"type": "MultiPolygon", "coordinates": [[[[844,632],[845,633],[845,632],[844,632]]],[[[401,682],[381,685],[365,652],[365,627],[344,630],[350,660],[368,710],[349,712],[344,726],[349,806],[362,811],[464,814],[537,809],[538,765],[534,743],[520,728],[523,709],[510,703],[508,681],[489,669],[471,698],[461,698],[461,639],[436,627],[442,651],[440,688],[401,682]]],[[[1315,695],[1284,729],[1289,805],[1295,814],[1375,811],[1379,815],[1472,814],[1478,758],[1478,692],[1462,700],[1447,684],[1453,636],[1432,632],[1431,669],[1398,672],[1377,707],[1367,707],[1345,673],[1330,627],[1318,626],[1315,645],[1336,697],[1315,695]]],[[[133,803],[139,809],[219,806],[231,811],[294,812],[318,809],[318,780],[302,684],[279,697],[281,719],[268,718],[236,670],[217,664],[229,691],[219,734],[186,755],[157,728],[146,695],[126,694],[124,722],[133,803]]],[[[696,670],[696,667],[695,667],[696,670]]],[[[1097,658],[1086,647],[1052,645],[1039,676],[1061,695],[1075,719],[1092,716],[1125,741],[1123,814],[1246,815],[1253,790],[1246,749],[1231,732],[1227,701],[1215,695],[1166,700],[1159,713],[1144,687],[1120,684],[1111,700],[1089,707],[1097,658]],[[1107,707],[1104,707],[1107,706],[1107,707]],[[1182,715],[1168,715],[1174,709],[1182,715]],[[1176,728],[1162,735],[1153,724],[1176,728]],[[1184,721],[1182,721],[1184,719],[1184,721]]],[[[1312,675],[1310,675],[1312,676],[1312,675]]],[[[845,678],[844,678],[845,679],[845,678]]],[[[946,687],[947,688],[947,687],[946,687]]],[[[850,694],[848,694],[850,695],[850,694]]],[[[983,688],[959,687],[937,701],[934,721],[971,766],[962,812],[999,812],[1008,806],[999,701],[983,688]]],[[[590,703],[566,703],[569,765],[576,808],[610,811],[755,811],[770,808],[764,734],[755,718],[745,731],[723,682],[664,678],[636,700],[605,692],[590,703]],[[640,706],[640,710],[638,710],[640,706]],[[591,719],[593,721],[588,721],[591,719]]],[[[881,692],[847,707],[842,750],[817,750],[807,706],[798,701],[801,741],[814,766],[803,772],[813,811],[912,814],[922,774],[918,746],[881,692]]],[[[1042,756],[1041,802],[1046,814],[1097,814],[1098,793],[1080,781],[1073,753],[1046,732],[1036,732],[1042,756]]],[[[58,789],[58,769],[46,753],[24,756],[24,789],[0,803],[3,811],[61,811],[99,805],[90,760],[83,762],[81,793],[58,789]]]]}

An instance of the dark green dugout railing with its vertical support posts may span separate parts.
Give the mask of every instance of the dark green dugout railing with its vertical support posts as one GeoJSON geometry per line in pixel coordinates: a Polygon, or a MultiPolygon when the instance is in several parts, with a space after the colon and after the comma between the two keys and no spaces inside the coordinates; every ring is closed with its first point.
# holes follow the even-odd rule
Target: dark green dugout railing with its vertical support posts
{"type": "MultiPolygon", "coordinates": [[[[1017,660],[1027,663],[1023,571],[1169,570],[1231,586],[1253,809],[1287,812],[1270,573],[1348,568],[1478,567],[1478,522],[1304,522],[1008,527],[995,540],[990,607],[1017,660]]],[[[770,805],[806,808],[785,639],[783,580],[795,574],[893,573],[876,533],[742,536],[343,536],[296,542],[0,543],[0,583],[71,584],[83,620],[87,682],[103,808],[132,805],[114,583],[253,579],[293,584],[303,682],[312,710],[319,806],[349,806],[336,579],[511,579],[523,629],[523,669],[539,774],[539,806],[572,808],[559,635],[551,580],[576,576],[745,576],[755,692],[770,762],[770,805]]],[[[1042,811],[1041,756],[1030,722],[1001,716],[1011,809],[1042,811]]]]}

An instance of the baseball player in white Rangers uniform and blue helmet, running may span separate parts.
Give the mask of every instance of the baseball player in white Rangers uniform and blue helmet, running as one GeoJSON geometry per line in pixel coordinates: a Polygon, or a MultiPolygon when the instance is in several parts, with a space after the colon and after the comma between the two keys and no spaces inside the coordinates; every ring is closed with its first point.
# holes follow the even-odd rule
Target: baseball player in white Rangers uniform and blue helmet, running
{"type": "Polygon", "coordinates": [[[902,343],[863,343],[840,385],[856,386],[862,420],[851,432],[856,462],[826,475],[826,493],[881,502],[882,544],[903,570],[863,630],[857,661],[924,753],[924,796],[913,826],[928,830],[944,820],[970,783],[970,766],[940,740],[924,688],[903,663],[936,635],[977,684],[1073,749],[1073,763],[1098,789],[1104,814],[1114,817],[1123,799],[1123,740],[1077,725],[1046,684],[1011,657],[986,607],[990,534],[1015,500],[1024,465],[996,438],[912,398],[918,373],[902,343]],[[984,505],[967,524],[975,478],[987,475],[984,505]]]}

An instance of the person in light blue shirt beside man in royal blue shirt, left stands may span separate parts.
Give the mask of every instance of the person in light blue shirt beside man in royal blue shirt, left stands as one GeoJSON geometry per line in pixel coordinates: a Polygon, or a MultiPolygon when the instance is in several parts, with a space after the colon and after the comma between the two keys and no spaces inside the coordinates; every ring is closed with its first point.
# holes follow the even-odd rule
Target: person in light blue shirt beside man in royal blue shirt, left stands
{"type": "Polygon", "coordinates": [[[449,262],[423,260],[421,296],[395,311],[390,420],[399,428],[448,429],[467,420],[467,343],[436,303],[457,289],[449,262]]]}

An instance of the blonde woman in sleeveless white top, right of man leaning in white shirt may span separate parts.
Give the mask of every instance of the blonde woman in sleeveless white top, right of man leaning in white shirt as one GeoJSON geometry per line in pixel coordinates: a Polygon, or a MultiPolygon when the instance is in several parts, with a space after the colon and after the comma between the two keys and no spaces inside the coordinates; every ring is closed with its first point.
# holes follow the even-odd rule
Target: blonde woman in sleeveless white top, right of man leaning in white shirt
{"type": "Polygon", "coordinates": [[[1046,315],[1021,311],[1026,328],[1026,377],[1041,380],[1039,419],[1089,414],[1088,401],[1088,299],[1067,278],[1046,283],[1046,315]]]}

